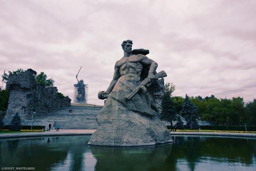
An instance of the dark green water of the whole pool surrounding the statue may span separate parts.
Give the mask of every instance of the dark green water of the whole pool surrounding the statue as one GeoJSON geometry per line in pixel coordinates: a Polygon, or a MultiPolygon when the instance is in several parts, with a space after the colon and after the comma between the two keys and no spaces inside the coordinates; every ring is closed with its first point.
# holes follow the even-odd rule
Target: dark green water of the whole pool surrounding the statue
{"type": "Polygon", "coordinates": [[[36,171],[256,171],[256,139],[173,136],[147,147],[88,146],[90,136],[0,139],[0,167],[36,171]]]}

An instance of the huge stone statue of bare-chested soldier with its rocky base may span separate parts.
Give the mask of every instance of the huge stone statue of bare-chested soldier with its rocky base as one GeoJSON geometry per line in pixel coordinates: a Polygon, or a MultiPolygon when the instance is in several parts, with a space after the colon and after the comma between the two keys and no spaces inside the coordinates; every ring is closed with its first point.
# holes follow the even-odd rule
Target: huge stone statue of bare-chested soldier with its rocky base
{"type": "Polygon", "coordinates": [[[131,50],[132,41],[123,41],[124,57],[115,64],[113,80],[99,99],[107,99],[97,116],[98,129],[89,145],[140,146],[172,142],[172,136],[158,118],[154,92],[160,91],[157,63],[145,49],[131,50]]]}

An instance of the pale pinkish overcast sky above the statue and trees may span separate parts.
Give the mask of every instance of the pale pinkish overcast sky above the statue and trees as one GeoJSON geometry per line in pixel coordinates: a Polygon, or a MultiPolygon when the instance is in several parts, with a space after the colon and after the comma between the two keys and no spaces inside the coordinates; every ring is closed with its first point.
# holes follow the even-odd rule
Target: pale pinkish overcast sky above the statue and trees
{"type": "Polygon", "coordinates": [[[88,103],[113,78],[121,43],[149,49],[173,96],[256,98],[256,0],[0,0],[0,75],[45,72],[73,100],[78,78],[88,103]]]}

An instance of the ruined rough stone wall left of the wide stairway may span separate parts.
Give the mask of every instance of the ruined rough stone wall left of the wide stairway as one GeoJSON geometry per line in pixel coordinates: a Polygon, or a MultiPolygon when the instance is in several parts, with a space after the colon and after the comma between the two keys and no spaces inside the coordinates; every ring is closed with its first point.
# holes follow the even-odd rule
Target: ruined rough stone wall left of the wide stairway
{"type": "Polygon", "coordinates": [[[57,96],[57,87],[44,87],[34,79],[36,72],[28,69],[18,75],[9,75],[6,88],[10,90],[8,109],[4,118],[9,124],[12,117],[18,112],[22,121],[32,119],[32,113],[45,115],[70,106],[71,99],[66,96],[61,99],[57,96]]]}

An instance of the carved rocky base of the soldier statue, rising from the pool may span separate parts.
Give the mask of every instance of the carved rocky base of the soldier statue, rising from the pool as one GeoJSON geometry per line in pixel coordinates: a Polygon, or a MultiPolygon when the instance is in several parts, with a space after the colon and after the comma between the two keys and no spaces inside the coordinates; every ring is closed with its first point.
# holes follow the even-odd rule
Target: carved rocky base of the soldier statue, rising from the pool
{"type": "Polygon", "coordinates": [[[143,146],[173,142],[170,132],[158,116],[128,110],[112,97],[108,97],[97,116],[97,122],[99,127],[88,145],[143,146]]]}

